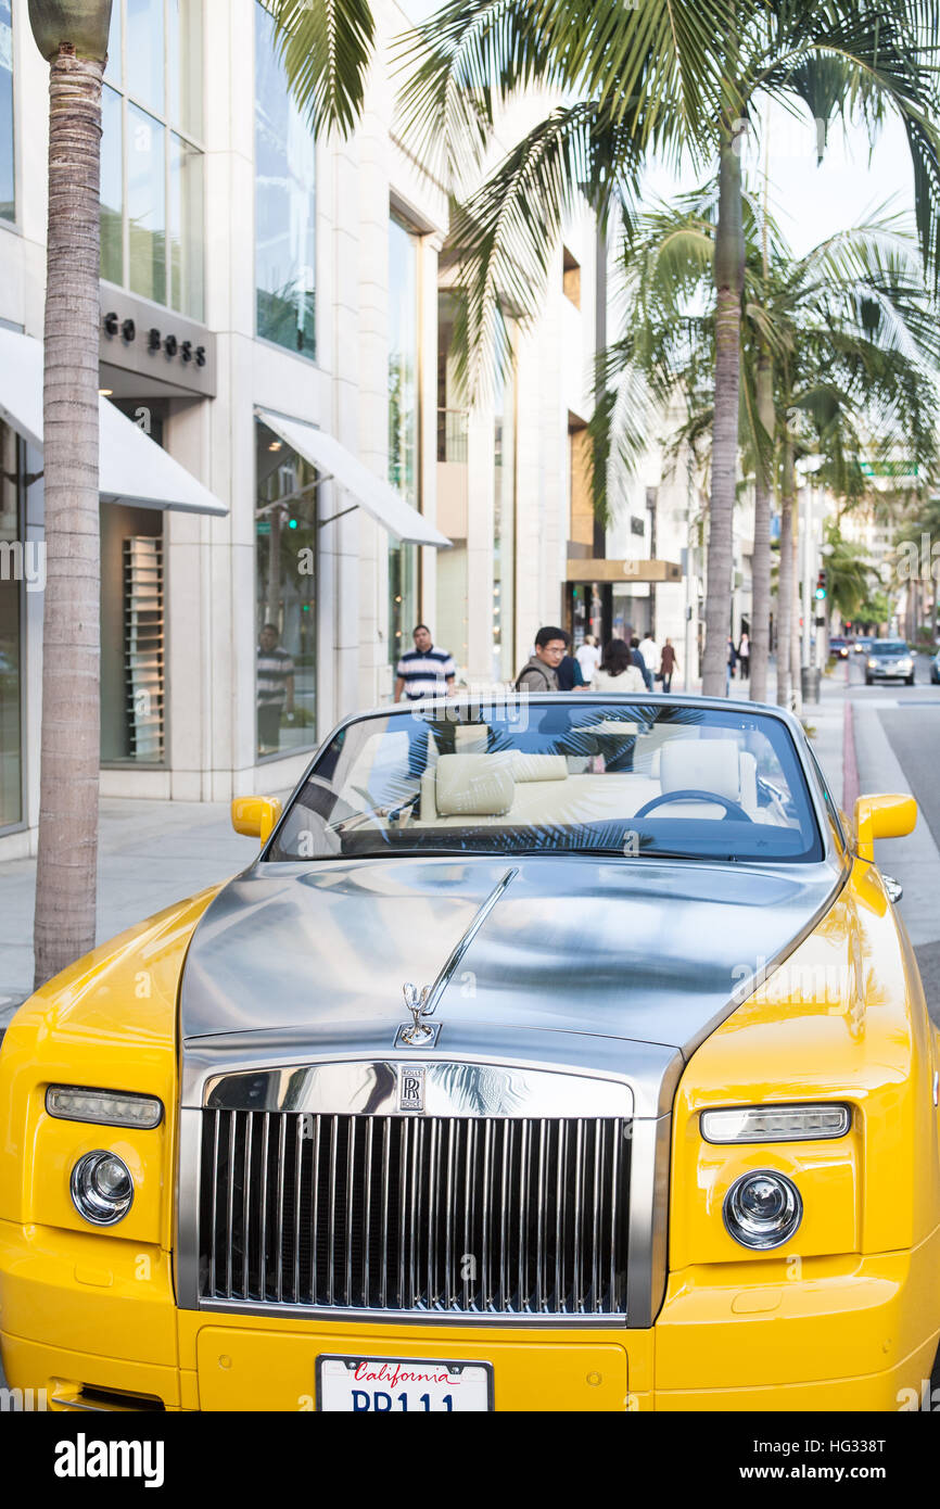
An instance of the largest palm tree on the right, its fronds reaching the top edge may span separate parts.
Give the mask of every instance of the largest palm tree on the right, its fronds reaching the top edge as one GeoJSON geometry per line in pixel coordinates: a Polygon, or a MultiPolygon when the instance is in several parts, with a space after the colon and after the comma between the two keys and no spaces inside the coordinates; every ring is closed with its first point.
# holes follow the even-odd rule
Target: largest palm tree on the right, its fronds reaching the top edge
{"type": "MultiPolygon", "coordinates": [[[[502,300],[537,312],[564,216],[581,193],[605,225],[637,217],[649,152],[687,148],[718,164],[714,254],[715,413],[703,690],[724,691],[732,513],[741,397],[741,146],[762,103],[783,100],[828,122],[859,115],[874,134],[904,121],[914,161],[923,254],[940,266],[940,142],[931,44],[934,0],[450,0],[413,33],[404,57],[406,121],[459,186],[498,113],[537,86],[555,106],[489,174],[456,217],[468,291],[466,365],[505,358],[502,300]]],[[[474,383],[475,386],[475,383],[474,383]]]]}

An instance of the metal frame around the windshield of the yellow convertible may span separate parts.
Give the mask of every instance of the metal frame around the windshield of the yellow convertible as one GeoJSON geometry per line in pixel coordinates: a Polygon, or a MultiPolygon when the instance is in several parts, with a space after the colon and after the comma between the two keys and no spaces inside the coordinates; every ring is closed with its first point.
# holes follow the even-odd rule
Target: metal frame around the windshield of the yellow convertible
{"type": "MultiPolygon", "coordinates": [[[[505,696],[507,694],[504,693],[502,694],[504,700],[505,700],[505,696]]],[[[457,703],[463,703],[463,705],[480,705],[480,703],[483,703],[483,706],[487,706],[487,705],[492,705],[492,700],[493,700],[492,694],[487,696],[487,694],[480,694],[480,693],[468,693],[465,696],[457,694],[457,697],[433,697],[433,699],[427,699],[425,703],[424,703],[424,706],[425,706],[427,714],[429,714],[429,721],[433,721],[433,715],[435,715],[436,711],[441,711],[441,714],[448,714],[448,712],[453,714],[453,708],[454,708],[456,702],[457,703]]],[[[800,723],[800,720],[794,714],[791,714],[786,708],[777,708],[777,706],[768,705],[768,703],[757,703],[757,702],[739,702],[738,703],[733,699],[724,699],[724,697],[664,696],[664,694],[656,694],[656,693],[604,693],[604,691],[594,691],[594,693],[540,693],[540,694],[536,694],[536,696],[530,696],[527,699],[527,702],[530,705],[533,705],[533,706],[549,706],[549,708],[551,706],[557,708],[560,703],[570,705],[570,706],[625,706],[625,708],[631,706],[631,708],[635,708],[637,705],[643,705],[643,706],[650,706],[650,708],[656,708],[656,706],[662,706],[662,708],[691,708],[691,709],[696,709],[696,711],[700,711],[700,712],[706,712],[706,711],[708,712],[720,712],[724,717],[727,717],[729,712],[735,714],[735,712],[739,711],[742,717],[747,717],[747,715],[750,715],[750,717],[759,717],[759,718],[766,718],[770,721],[774,721],[777,724],[783,724],[783,730],[782,732],[785,733],[785,736],[789,738],[794,761],[795,761],[795,764],[797,764],[801,776],[803,776],[806,797],[809,798],[809,812],[812,813],[812,819],[813,819],[815,830],[816,830],[818,850],[821,850],[821,853],[816,853],[816,854],[813,854],[809,859],[807,857],[788,859],[786,856],[771,856],[768,859],[751,859],[751,857],[747,857],[747,859],[733,859],[733,860],[721,859],[721,857],[717,857],[717,856],[703,856],[703,854],[688,854],[688,856],[685,856],[683,854],[683,856],[670,856],[670,862],[676,862],[676,863],[694,863],[694,865],[715,863],[715,865],[720,865],[720,866],[727,866],[729,863],[735,863],[735,865],[738,865],[741,868],[754,866],[754,868],[757,868],[760,871],[773,869],[774,866],[783,866],[785,869],[789,871],[789,869],[798,868],[798,866],[804,866],[804,868],[806,866],[818,866],[821,863],[828,863],[828,865],[836,863],[836,865],[840,865],[843,862],[843,854],[840,854],[837,851],[837,847],[836,847],[836,844],[833,841],[833,831],[831,831],[830,816],[828,816],[828,812],[827,812],[827,807],[825,807],[825,800],[824,800],[824,795],[822,795],[822,782],[819,779],[818,771],[813,768],[813,761],[807,754],[806,732],[804,732],[803,724],[800,723]]],[[[370,709],[362,711],[362,712],[350,714],[350,717],[343,718],[339,723],[336,723],[336,726],[333,729],[330,729],[330,732],[327,733],[327,736],[323,739],[323,742],[318,745],[318,748],[315,750],[314,756],[311,758],[311,761],[309,761],[308,767],[305,768],[300,780],[297,782],[297,785],[291,791],[290,797],[284,803],[284,810],[281,813],[281,818],[276,822],[273,831],[270,833],[269,841],[264,845],[261,854],[258,856],[258,860],[257,860],[258,865],[264,863],[264,865],[276,865],[276,866],[285,866],[285,865],[293,865],[293,866],[303,865],[303,866],[308,866],[308,865],[314,865],[314,863],[358,863],[358,862],[367,863],[367,862],[370,862],[370,859],[374,860],[377,857],[377,856],[347,854],[347,856],[309,856],[309,857],[303,857],[303,859],[299,859],[299,857],[294,857],[294,856],[279,856],[279,857],[275,859],[272,856],[275,854],[275,851],[278,848],[279,834],[281,834],[284,825],[287,824],[287,819],[290,818],[290,813],[291,813],[291,810],[293,810],[293,807],[294,807],[294,804],[296,804],[300,792],[303,791],[306,782],[311,779],[312,773],[315,771],[317,764],[326,754],[326,751],[329,750],[329,747],[335,741],[335,738],[341,732],[344,732],[347,729],[352,729],[352,727],[355,727],[359,723],[370,723],[370,721],[376,721],[376,720],[386,720],[392,714],[407,714],[407,712],[413,714],[413,705],[412,703],[407,703],[407,702],[404,702],[404,703],[401,703],[401,702],[398,702],[398,703],[386,703],[385,706],[380,706],[380,708],[370,708],[370,709]]],[[[813,847],[816,847],[816,844],[813,847]]],[[[465,854],[466,859],[486,859],[489,851],[486,851],[483,848],[480,848],[480,850],[477,850],[477,848],[468,848],[468,850],[462,850],[460,853],[465,854]]],[[[493,850],[492,853],[493,854],[499,854],[499,857],[502,857],[502,856],[505,856],[507,859],[511,857],[510,851],[493,850]]],[[[552,851],[539,850],[539,854],[542,854],[545,857],[566,857],[566,859],[570,859],[570,857],[575,857],[578,853],[597,853],[601,857],[607,856],[610,859],[617,859],[619,857],[614,850],[604,850],[604,851],[581,850],[579,851],[578,848],[570,848],[570,850],[561,850],[560,848],[560,850],[557,850],[554,853],[554,856],[552,856],[552,851]]],[[[419,859],[419,857],[424,857],[424,859],[433,860],[436,856],[435,856],[435,851],[432,848],[424,850],[424,851],[419,850],[419,848],[415,848],[415,850],[409,850],[409,848],[398,848],[398,850],[397,848],[389,848],[388,850],[388,856],[382,856],[382,857],[403,857],[403,859],[409,859],[409,857],[410,859],[419,859]]],[[[453,857],[453,853],[451,853],[451,857],[453,857]]],[[[665,856],[656,856],[653,851],[650,851],[647,856],[644,856],[643,862],[653,863],[653,862],[656,862],[658,857],[659,859],[665,859],[665,856]]]]}

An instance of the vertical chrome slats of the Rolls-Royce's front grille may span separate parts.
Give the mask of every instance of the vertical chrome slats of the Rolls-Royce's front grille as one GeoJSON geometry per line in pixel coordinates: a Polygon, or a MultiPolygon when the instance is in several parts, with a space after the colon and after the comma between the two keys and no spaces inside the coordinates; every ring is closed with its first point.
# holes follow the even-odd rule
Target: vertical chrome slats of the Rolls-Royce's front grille
{"type": "Polygon", "coordinates": [[[199,1293],[625,1314],[629,1133],[613,1117],[204,1111],[199,1293]]]}

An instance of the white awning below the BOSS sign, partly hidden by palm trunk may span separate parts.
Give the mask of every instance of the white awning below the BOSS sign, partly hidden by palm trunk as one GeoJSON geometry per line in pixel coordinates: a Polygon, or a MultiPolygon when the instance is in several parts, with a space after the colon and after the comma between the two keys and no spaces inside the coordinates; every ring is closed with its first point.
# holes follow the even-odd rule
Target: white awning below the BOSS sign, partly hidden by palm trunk
{"type": "MultiPolygon", "coordinates": [[[[107,398],[98,398],[98,492],[107,502],[226,515],[201,481],[107,398]]],[[[0,418],[42,450],[42,341],[0,327],[0,418]]]]}

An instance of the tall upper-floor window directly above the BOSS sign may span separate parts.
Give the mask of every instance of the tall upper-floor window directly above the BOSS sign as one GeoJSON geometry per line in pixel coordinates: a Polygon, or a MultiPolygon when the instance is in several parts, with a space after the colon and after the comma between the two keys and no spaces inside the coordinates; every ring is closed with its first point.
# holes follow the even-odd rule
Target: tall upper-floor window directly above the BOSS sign
{"type": "Polygon", "coordinates": [[[202,0],[115,0],[101,113],[101,276],[202,320],[202,0]]]}

